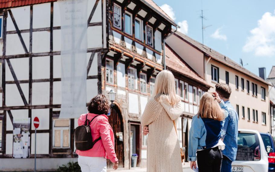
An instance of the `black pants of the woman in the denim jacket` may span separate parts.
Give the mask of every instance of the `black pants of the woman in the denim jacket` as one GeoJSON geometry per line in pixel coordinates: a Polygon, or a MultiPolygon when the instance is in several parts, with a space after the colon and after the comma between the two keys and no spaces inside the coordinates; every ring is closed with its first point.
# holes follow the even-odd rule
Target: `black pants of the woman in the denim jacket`
{"type": "Polygon", "coordinates": [[[197,151],[199,172],[221,172],[222,151],[218,147],[197,151]]]}

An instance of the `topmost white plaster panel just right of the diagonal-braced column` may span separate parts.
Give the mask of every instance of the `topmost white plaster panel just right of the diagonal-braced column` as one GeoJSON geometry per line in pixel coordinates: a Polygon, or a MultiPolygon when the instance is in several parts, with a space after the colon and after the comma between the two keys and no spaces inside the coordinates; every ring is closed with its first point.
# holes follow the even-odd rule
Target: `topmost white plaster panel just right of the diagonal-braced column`
{"type": "Polygon", "coordinates": [[[33,28],[47,28],[47,27],[50,27],[50,3],[34,5],[33,6],[33,28]]]}

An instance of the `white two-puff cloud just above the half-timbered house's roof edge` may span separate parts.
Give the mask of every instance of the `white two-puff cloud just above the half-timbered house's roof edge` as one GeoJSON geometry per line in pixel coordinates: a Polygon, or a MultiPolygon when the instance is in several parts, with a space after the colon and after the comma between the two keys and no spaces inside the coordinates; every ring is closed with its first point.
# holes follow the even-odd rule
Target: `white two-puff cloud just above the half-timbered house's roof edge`
{"type": "MultiPolygon", "coordinates": [[[[163,4],[160,6],[160,8],[167,14],[170,16],[170,18],[172,18],[173,20],[176,20],[176,16],[174,13],[173,8],[168,5],[168,4],[163,4]]],[[[187,34],[188,33],[188,23],[186,20],[180,21],[178,22],[178,25],[180,26],[180,28],[178,29],[178,31],[182,32],[183,34],[187,34]]]]}

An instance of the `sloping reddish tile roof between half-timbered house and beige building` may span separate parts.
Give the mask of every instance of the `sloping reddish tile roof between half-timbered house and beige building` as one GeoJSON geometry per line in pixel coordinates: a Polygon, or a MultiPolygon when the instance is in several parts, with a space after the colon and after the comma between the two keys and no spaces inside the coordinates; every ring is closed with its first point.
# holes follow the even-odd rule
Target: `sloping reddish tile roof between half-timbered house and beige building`
{"type": "Polygon", "coordinates": [[[191,69],[185,61],[183,61],[180,56],[178,56],[169,46],[165,46],[165,55],[166,55],[166,66],[170,69],[173,69],[188,78],[191,78],[201,84],[205,85],[206,87],[211,87],[204,79],[199,77],[193,69],[191,69]]]}

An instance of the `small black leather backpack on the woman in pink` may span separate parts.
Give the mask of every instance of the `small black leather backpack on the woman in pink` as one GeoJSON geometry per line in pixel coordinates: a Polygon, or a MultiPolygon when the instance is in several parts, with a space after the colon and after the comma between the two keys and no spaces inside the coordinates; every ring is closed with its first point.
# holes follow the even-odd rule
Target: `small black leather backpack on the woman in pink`
{"type": "Polygon", "coordinates": [[[86,120],[84,125],[76,127],[74,131],[74,140],[76,144],[76,149],[79,151],[87,151],[89,149],[92,149],[94,144],[101,139],[101,137],[99,137],[93,142],[91,129],[90,129],[91,122],[99,115],[96,115],[95,117],[93,117],[91,121],[87,119],[87,116],[88,114],[86,115],[86,120]]]}

